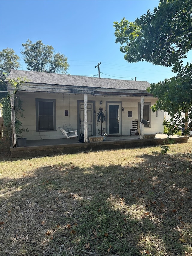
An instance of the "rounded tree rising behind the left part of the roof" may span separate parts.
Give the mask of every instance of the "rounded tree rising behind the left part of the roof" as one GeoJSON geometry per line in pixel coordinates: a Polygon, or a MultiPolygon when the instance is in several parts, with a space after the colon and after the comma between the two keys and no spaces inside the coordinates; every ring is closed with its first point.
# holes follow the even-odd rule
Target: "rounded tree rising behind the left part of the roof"
{"type": "Polygon", "coordinates": [[[21,53],[25,56],[27,70],[66,74],[69,68],[67,57],[61,53],[54,53],[52,46],[44,45],[41,40],[33,44],[29,39],[22,46],[24,50],[21,53]]]}

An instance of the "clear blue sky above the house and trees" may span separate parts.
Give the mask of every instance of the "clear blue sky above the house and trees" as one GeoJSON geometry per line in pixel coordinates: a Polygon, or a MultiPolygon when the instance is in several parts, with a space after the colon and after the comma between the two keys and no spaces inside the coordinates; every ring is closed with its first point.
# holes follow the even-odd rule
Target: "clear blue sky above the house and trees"
{"type": "Polygon", "coordinates": [[[41,40],[55,53],[67,57],[71,75],[148,81],[158,83],[174,76],[171,67],[148,62],[128,63],[116,44],[113,23],[123,17],[135,21],[156,0],[0,0],[0,51],[11,48],[20,57],[20,70],[27,70],[20,53],[22,44],[41,40]]]}

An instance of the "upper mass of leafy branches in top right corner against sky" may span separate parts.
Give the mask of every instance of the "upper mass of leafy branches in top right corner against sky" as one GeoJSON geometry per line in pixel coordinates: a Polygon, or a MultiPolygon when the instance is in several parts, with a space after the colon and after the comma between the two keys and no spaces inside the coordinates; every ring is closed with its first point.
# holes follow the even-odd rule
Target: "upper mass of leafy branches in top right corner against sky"
{"type": "Polygon", "coordinates": [[[191,49],[191,2],[160,1],[135,22],[114,22],[116,43],[128,62],[172,66],[191,49]]]}

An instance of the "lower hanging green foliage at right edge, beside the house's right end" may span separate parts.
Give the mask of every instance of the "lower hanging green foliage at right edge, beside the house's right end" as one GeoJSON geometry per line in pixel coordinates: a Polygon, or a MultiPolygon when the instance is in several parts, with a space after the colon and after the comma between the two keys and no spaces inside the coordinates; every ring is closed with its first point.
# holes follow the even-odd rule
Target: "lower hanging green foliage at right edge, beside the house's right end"
{"type": "MultiPolygon", "coordinates": [[[[152,111],[164,110],[170,115],[170,123],[175,127],[185,128],[185,133],[191,130],[192,120],[192,65],[187,64],[176,77],[165,79],[163,82],[151,84],[148,91],[158,97],[158,101],[152,106],[152,111]],[[188,112],[187,117],[182,117],[182,113],[188,112]]],[[[173,133],[174,134],[174,133],[173,133]]]]}

